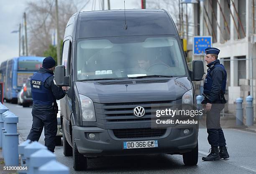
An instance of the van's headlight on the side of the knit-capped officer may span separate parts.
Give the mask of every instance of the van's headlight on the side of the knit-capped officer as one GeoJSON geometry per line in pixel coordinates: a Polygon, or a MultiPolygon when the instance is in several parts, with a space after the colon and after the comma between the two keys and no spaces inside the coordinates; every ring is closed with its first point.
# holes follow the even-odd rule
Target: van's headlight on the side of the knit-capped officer
{"type": "Polygon", "coordinates": [[[79,94],[81,109],[82,109],[82,121],[83,122],[96,122],[95,110],[92,99],[79,94]]]}

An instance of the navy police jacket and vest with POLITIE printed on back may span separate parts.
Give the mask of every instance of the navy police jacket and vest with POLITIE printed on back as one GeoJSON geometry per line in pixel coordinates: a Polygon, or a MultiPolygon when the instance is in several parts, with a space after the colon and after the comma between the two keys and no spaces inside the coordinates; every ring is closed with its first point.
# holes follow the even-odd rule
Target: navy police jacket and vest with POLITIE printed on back
{"type": "Polygon", "coordinates": [[[55,85],[53,79],[54,73],[43,67],[31,77],[32,114],[50,114],[58,110],[56,99],[63,98],[66,92],[55,85]]]}

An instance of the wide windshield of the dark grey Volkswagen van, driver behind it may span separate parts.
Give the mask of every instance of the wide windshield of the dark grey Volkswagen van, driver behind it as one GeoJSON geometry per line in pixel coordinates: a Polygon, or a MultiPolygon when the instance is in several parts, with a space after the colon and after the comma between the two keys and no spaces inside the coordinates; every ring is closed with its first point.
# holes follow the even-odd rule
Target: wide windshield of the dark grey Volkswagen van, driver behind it
{"type": "Polygon", "coordinates": [[[77,80],[186,75],[176,37],[125,36],[79,39],[77,80]]]}

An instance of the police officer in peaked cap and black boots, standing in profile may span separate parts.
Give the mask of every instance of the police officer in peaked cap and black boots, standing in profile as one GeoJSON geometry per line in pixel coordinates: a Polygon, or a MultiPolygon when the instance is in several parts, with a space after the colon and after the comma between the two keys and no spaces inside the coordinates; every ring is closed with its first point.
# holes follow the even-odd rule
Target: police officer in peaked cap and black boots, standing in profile
{"type": "Polygon", "coordinates": [[[226,140],[220,127],[220,111],[224,109],[226,103],[224,94],[227,72],[218,60],[219,53],[220,50],[218,48],[208,47],[205,49],[205,61],[207,62],[208,69],[204,84],[205,99],[202,101],[202,104],[205,105],[207,112],[206,127],[211,152],[206,157],[202,157],[204,161],[229,158],[226,140]]]}

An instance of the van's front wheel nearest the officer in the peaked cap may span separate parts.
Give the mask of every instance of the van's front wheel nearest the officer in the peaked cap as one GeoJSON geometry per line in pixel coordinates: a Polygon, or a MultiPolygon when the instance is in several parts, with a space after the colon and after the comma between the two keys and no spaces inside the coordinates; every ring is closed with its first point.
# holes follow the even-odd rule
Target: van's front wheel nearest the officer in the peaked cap
{"type": "Polygon", "coordinates": [[[183,162],[187,166],[195,166],[198,162],[198,142],[197,147],[193,149],[191,152],[187,152],[183,154],[183,162]]]}

